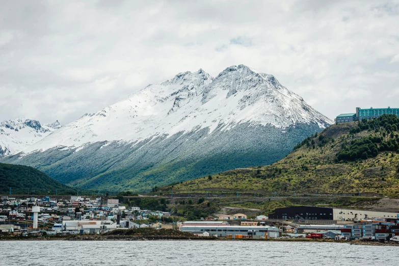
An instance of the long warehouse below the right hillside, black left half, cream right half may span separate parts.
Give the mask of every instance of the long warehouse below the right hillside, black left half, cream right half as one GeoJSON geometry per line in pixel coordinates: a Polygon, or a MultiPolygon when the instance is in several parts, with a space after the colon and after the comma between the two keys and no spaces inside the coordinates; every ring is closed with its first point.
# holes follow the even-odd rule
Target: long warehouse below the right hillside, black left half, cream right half
{"type": "Polygon", "coordinates": [[[329,207],[299,206],[277,208],[269,219],[283,220],[337,220],[360,221],[374,218],[399,220],[399,212],[383,212],[363,209],[343,209],[329,207]]]}

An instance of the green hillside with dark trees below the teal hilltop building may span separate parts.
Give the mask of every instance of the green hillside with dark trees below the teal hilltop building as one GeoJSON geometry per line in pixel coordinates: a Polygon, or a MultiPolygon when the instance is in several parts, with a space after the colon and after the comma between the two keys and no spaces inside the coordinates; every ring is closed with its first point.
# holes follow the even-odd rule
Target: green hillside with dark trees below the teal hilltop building
{"type": "Polygon", "coordinates": [[[377,193],[399,196],[399,118],[331,125],[269,166],[230,170],[174,183],[157,193],[254,193],[271,195],[377,193]]]}

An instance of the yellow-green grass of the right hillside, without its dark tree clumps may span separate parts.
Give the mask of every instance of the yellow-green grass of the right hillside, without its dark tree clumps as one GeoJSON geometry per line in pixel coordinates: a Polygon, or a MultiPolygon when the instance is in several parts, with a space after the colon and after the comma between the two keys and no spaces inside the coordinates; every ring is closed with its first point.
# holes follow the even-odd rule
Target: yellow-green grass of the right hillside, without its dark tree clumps
{"type": "MultiPolygon", "coordinates": [[[[351,193],[373,192],[399,196],[399,154],[393,151],[380,152],[374,158],[357,162],[335,163],[335,155],[342,149],[343,142],[369,135],[382,136],[382,132],[363,130],[353,136],[350,129],[358,122],[331,125],[320,135],[334,138],[319,147],[318,136],[312,136],[315,143],[295,149],[285,158],[269,166],[231,170],[208,177],[176,183],[160,188],[159,191],[174,193],[204,192],[224,193],[228,191],[257,191],[258,193],[351,193]],[[281,172],[280,172],[281,170],[281,172]]],[[[395,132],[397,133],[397,132],[395,132]]],[[[388,139],[386,136],[384,139],[388,139]]],[[[236,192],[235,192],[236,193],[236,192]]]]}

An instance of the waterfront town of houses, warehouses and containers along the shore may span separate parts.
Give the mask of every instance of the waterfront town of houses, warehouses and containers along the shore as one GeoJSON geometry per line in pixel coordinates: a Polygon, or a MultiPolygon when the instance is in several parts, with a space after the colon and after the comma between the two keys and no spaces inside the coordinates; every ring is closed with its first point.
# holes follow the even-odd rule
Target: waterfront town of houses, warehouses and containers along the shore
{"type": "Polygon", "coordinates": [[[323,238],[399,242],[399,212],[298,206],[276,208],[274,214],[251,219],[237,212],[204,217],[198,221],[175,221],[170,212],[126,207],[118,199],[1,197],[2,236],[101,235],[117,229],[135,228],[173,229],[201,237],[235,239],[323,238]]]}

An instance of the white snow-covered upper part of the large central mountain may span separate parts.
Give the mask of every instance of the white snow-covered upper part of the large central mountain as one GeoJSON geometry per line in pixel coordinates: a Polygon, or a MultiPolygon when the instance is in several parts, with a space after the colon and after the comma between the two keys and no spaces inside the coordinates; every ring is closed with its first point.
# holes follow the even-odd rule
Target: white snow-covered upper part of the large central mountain
{"type": "Polygon", "coordinates": [[[134,144],[201,128],[209,128],[210,134],[219,126],[227,130],[246,122],[281,129],[296,123],[316,123],[321,128],[332,123],[273,75],[239,65],[226,68],[215,80],[200,69],[148,85],[123,101],[63,126],[24,152],[56,146],[83,148],[99,141],[134,144]]]}

